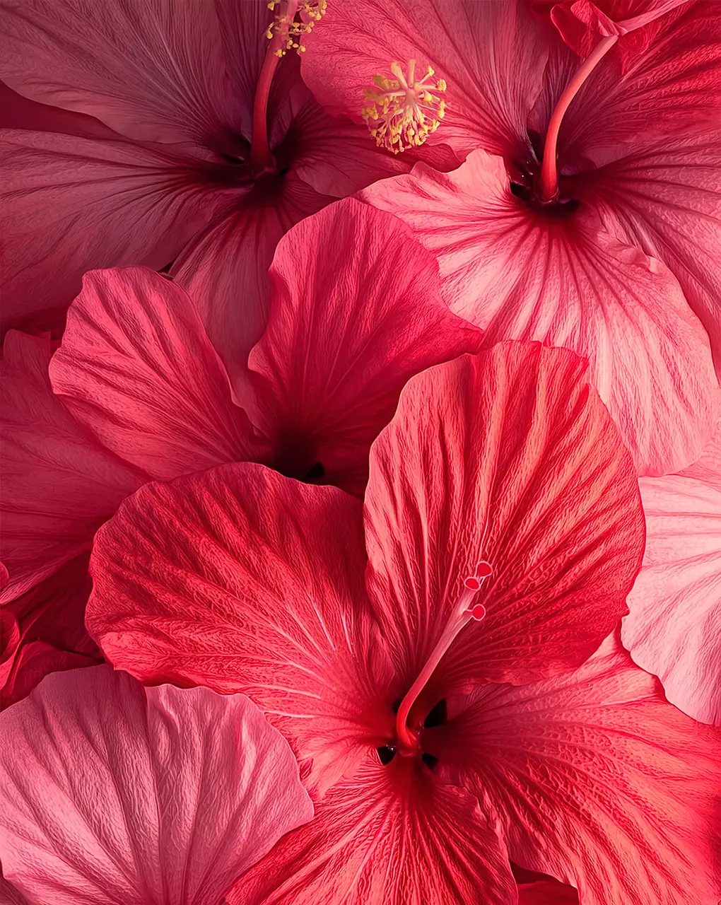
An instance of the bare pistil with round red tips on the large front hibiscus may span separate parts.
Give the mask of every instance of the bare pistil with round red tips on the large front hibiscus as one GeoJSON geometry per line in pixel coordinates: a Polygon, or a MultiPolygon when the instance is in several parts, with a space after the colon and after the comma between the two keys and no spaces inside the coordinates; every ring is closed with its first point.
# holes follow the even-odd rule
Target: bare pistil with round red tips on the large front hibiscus
{"type": "Polygon", "coordinates": [[[480,622],[486,615],[486,607],[483,604],[474,605],[473,600],[479,593],[483,582],[492,572],[493,569],[484,560],[479,562],[475,575],[464,579],[463,591],[460,594],[458,604],[451,613],[448,624],[443,629],[443,633],[433,648],[431,656],[424,663],[418,678],[413,682],[413,685],[401,701],[401,706],[398,708],[395,718],[395,732],[401,755],[413,755],[418,750],[419,732],[417,729],[412,729],[408,726],[408,715],[415,700],[425,688],[435,668],[441,662],[443,655],[451,647],[451,643],[453,643],[463,626],[470,623],[471,620],[480,622]]]}

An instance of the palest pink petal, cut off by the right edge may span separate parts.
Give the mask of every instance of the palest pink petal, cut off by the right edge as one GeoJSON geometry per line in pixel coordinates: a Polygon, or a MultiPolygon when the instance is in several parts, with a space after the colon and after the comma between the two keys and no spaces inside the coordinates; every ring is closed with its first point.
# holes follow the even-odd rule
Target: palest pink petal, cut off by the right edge
{"type": "MultiPolygon", "coordinates": [[[[721,430],[717,440],[721,439],[721,430]]],[[[643,567],[621,640],[659,676],[667,698],[721,726],[721,455],[711,481],[699,470],[640,481],[646,512],[643,567]]]]}

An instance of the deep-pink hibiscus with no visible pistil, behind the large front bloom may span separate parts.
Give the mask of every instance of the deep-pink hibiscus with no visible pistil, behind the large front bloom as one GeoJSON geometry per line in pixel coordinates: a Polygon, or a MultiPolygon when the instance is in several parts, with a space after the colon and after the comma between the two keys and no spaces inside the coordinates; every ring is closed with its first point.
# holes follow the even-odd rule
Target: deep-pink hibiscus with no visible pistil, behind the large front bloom
{"type": "Polygon", "coordinates": [[[408,378],[480,345],[441,300],[430,252],[353,199],[293,227],[270,279],[268,329],[250,359],[238,353],[235,380],[190,296],[143,268],[87,275],[52,359],[47,339],[8,334],[5,701],[41,677],[19,674],[24,643],[44,643],[37,666],[67,653],[92,662],[89,639],[72,643],[84,636],[92,538],[145,481],[264,462],[362,495],[370,445],[408,378]]]}

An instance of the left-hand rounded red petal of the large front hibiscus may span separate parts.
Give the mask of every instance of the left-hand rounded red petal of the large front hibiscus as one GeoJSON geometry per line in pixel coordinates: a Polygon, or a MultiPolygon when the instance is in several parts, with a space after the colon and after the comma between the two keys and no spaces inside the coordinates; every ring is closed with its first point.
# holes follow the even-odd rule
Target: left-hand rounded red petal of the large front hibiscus
{"type": "Polygon", "coordinates": [[[100,530],[86,623],[119,668],[242,690],[300,757],[342,772],[348,746],[394,719],[375,715],[383,646],[365,662],[364,569],[358,500],[226,465],[147,484],[100,530]]]}

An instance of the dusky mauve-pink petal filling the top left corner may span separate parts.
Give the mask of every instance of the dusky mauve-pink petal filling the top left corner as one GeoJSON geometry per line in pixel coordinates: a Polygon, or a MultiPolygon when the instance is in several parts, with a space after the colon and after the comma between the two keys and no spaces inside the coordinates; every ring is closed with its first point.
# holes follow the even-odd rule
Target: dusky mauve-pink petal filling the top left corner
{"type": "Polygon", "coordinates": [[[197,140],[231,120],[213,4],[7,0],[0,77],[131,138],[197,140]]]}

